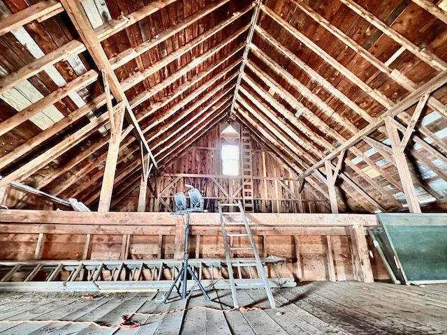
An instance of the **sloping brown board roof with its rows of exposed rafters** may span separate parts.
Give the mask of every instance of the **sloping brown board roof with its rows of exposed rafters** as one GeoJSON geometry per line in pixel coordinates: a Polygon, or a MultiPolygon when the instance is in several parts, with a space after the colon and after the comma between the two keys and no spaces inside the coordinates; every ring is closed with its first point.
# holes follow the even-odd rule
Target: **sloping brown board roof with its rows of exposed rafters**
{"type": "MultiPolygon", "coordinates": [[[[234,100],[235,114],[240,112],[240,119],[258,135],[263,127],[261,135],[276,143],[279,156],[305,171],[434,77],[447,59],[447,25],[411,1],[265,0],[256,27],[250,24],[254,13],[251,1],[171,0],[155,8],[150,2],[143,6],[140,1],[83,0],[81,5],[161,165],[188,147],[193,134],[206,131],[224,117],[234,100]],[[365,10],[376,19],[362,18],[365,10]],[[386,24],[385,28],[377,28],[378,20],[386,24]],[[238,76],[249,31],[254,33],[253,47],[238,76]],[[238,79],[240,94],[235,97],[238,79]]],[[[0,3],[2,13],[17,13],[27,7],[19,0],[0,3]]],[[[5,50],[0,55],[3,75],[78,38],[66,13],[49,16],[0,37],[0,47],[5,50]]],[[[14,94],[3,92],[6,108],[1,119],[8,119],[91,69],[98,70],[84,50],[45,66],[11,87],[14,94]]],[[[1,136],[3,156],[15,149],[14,143],[34,142],[43,129],[66,121],[68,115],[102,93],[101,75],[93,84],[68,92],[30,119],[40,128],[25,121],[1,136]]],[[[446,101],[445,87],[432,93],[406,149],[423,202],[431,201],[430,197],[444,198],[442,189],[430,186],[442,185],[447,175],[446,101]]],[[[94,123],[106,112],[105,103],[96,104],[92,110],[46,140],[34,142],[38,144],[31,145],[8,168],[0,168],[0,174],[10,174],[33,162],[46,149],[94,123]]],[[[410,107],[396,118],[402,131],[414,110],[410,107]]],[[[94,204],[103,170],[96,158],[103,160],[108,147],[108,124],[100,126],[85,134],[80,143],[50,157],[46,165],[21,174],[24,180],[20,181],[33,181],[48,193],[60,191],[58,184],[66,181],[70,185],[61,194],[69,197],[70,192],[80,189],[78,200],[85,196],[94,204]],[[98,129],[105,137],[101,138],[98,129]],[[87,152],[93,145],[96,149],[87,152]],[[73,161],[76,157],[77,162],[73,161]],[[83,172],[84,180],[75,180],[78,172],[83,172]],[[47,183],[45,180],[51,178],[42,181],[37,174],[57,177],[47,183]],[[82,188],[87,188],[89,180],[93,181],[89,194],[83,195],[82,188]]],[[[129,136],[119,156],[119,180],[138,179],[138,143],[129,136]],[[132,164],[135,168],[128,170],[132,164]]],[[[389,146],[383,129],[370,137],[389,146]]],[[[398,209],[393,194],[402,191],[400,177],[388,155],[386,148],[377,149],[365,140],[350,147],[338,181],[342,191],[359,196],[363,207],[374,207],[355,190],[358,186],[386,209],[398,209]]],[[[337,158],[332,163],[335,165],[337,158]]],[[[309,178],[325,189],[324,174],[321,168],[316,175],[323,179],[309,178]]]]}

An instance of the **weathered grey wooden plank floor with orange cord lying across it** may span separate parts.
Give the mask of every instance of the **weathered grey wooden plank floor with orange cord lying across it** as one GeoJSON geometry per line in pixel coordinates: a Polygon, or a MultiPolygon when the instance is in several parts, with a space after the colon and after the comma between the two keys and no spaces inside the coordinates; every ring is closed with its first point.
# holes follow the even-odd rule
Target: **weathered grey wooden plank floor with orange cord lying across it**
{"type": "Polygon", "coordinates": [[[314,282],[274,291],[270,308],[263,290],[238,290],[241,305],[261,311],[221,313],[193,309],[158,316],[135,315],[134,329],[98,328],[78,322],[116,325],[126,313],[163,313],[193,306],[228,309],[229,290],[198,291],[189,301],[174,297],[161,304],[163,292],[98,294],[0,293],[0,335],[6,334],[447,334],[447,285],[425,287],[387,283],[314,282]],[[13,320],[45,322],[9,323],[13,320]],[[74,321],[66,324],[48,320],[74,321]]]}

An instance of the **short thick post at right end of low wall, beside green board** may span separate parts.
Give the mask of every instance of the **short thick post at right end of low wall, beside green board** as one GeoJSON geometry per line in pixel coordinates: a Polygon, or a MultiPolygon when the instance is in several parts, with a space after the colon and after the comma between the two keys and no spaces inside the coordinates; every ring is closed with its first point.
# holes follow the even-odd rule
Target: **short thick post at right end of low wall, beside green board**
{"type": "Polygon", "coordinates": [[[374,282],[371,262],[369,262],[369,250],[365,237],[365,230],[362,225],[352,225],[349,227],[351,237],[351,253],[353,255],[354,274],[358,281],[364,283],[374,282]]]}

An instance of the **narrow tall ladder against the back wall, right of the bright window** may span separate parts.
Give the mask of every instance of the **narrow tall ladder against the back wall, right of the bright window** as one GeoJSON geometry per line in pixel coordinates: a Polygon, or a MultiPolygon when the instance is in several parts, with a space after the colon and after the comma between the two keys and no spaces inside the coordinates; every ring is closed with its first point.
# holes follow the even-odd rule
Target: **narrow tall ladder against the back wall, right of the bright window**
{"type": "Polygon", "coordinates": [[[251,133],[247,126],[242,126],[242,200],[246,213],[254,212],[253,164],[251,160],[251,133]]]}

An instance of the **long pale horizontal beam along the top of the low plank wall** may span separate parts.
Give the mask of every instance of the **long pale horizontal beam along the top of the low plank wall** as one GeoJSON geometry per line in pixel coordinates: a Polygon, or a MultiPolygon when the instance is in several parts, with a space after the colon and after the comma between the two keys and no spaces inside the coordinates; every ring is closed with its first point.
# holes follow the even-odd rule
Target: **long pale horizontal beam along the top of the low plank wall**
{"type": "MultiPolygon", "coordinates": [[[[364,226],[377,225],[376,216],[371,214],[271,214],[249,213],[248,221],[253,225],[263,225],[270,228],[278,227],[349,227],[353,223],[364,226]]],[[[44,225],[71,225],[96,227],[97,225],[121,225],[122,227],[144,227],[147,223],[156,223],[159,226],[175,227],[183,223],[181,216],[169,213],[136,211],[36,211],[31,209],[2,209],[0,222],[4,225],[20,223],[24,227],[34,224],[33,230],[44,225]],[[94,223],[94,224],[92,224],[94,223]]],[[[191,225],[215,225],[220,228],[219,213],[192,213],[191,225]]],[[[3,226],[4,226],[3,225],[3,226]]],[[[26,228],[25,228],[26,229],[26,228]]],[[[3,232],[3,230],[0,230],[3,232]]],[[[99,233],[99,232],[98,232],[99,233]]],[[[121,234],[117,232],[116,234],[121,234]]]]}

